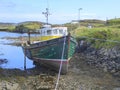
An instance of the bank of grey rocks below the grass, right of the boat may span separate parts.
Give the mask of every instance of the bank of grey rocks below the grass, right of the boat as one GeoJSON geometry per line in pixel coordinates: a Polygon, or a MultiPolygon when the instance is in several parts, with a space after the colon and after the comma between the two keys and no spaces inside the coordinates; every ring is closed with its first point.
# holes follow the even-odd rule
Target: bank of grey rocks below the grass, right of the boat
{"type": "Polygon", "coordinates": [[[120,74],[119,46],[95,49],[92,44],[86,42],[79,46],[78,52],[83,54],[88,65],[101,68],[104,72],[110,72],[114,75],[120,74]]]}

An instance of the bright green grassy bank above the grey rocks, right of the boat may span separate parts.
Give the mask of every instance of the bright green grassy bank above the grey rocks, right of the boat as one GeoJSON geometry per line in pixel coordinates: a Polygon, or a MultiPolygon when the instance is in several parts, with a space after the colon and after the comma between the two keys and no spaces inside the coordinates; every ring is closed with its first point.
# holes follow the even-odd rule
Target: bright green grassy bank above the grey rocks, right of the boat
{"type": "Polygon", "coordinates": [[[119,28],[78,28],[75,30],[75,33],[77,40],[85,39],[87,42],[92,43],[96,48],[110,48],[120,45],[119,28]]]}

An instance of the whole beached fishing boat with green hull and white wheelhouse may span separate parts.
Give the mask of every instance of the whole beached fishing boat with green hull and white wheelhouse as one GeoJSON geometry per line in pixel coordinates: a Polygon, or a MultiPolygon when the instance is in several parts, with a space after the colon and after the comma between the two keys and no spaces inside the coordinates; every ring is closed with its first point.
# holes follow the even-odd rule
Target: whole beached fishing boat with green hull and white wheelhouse
{"type": "MultiPolygon", "coordinates": [[[[48,16],[48,9],[46,10],[45,14],[48,16]]],[[[76,40],[68,34],[67,27],[51,27],[47,24],[40,29],[40,41],[23,46],[23,50],[24,54],[35,63],[56,71],[62,66],[61,72],[66,73],[75,47],[76,40]]]]}

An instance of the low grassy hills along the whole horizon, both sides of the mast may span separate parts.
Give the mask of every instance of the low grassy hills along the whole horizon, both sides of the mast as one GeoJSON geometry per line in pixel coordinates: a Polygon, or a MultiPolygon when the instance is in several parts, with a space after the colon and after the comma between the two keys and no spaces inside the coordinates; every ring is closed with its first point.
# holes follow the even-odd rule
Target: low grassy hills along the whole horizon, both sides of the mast
{"type": "MultiPolygon", "coordinates": [[[[0,31],[16,31],[16,32],[27,32],[28,30],[34,31],[41,28],[45,24],[44,22],[38,21],[25,21],[20,23],[2,23],[0,22],[0,31]]],[[[54,24],[52,26],[61,26],[59,24],[54,24]]],[[[88,28],[92,26],[93,28],[99,27],[110,27],[110,28],[120,28],[120,18],[110,19],[107,21],[97,20],[97,19],[85,19],[85,20],[73,20],[72,22],[62,24],[62,26],[68,27],[68,31],[75,30],[76,28],[85,27],[88,28]]]]}

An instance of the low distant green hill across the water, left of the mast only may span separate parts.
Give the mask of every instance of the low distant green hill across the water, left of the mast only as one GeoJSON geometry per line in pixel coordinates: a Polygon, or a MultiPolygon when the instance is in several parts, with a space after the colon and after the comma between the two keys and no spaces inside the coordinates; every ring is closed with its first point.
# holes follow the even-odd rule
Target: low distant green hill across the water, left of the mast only
{"type": "Polygon", "coordinates": [[[44,24],[37,21],[26,21],[20,23],[2,23],[0,22],[0,31],[14,31],[14,32],[27,32],[28,30],[36,30],[44,24]]]}

